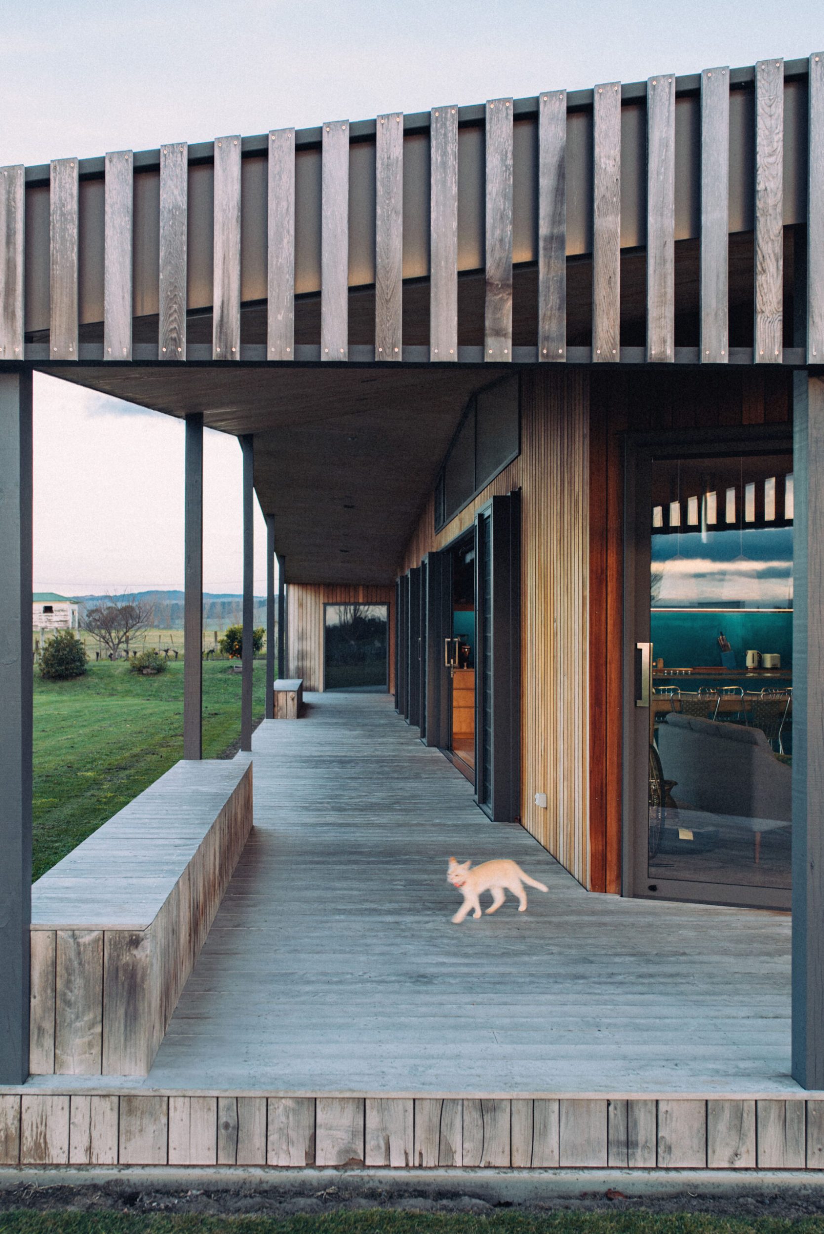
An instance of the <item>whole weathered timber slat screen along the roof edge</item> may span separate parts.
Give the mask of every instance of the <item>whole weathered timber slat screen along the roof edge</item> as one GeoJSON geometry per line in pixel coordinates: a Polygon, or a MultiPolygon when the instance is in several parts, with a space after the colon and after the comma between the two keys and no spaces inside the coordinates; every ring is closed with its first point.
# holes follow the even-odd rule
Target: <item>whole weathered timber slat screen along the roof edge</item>
{"type": "Polygon", "coordinates": [[[824,354],[822,53],[0,172],[0,360],[824,354]]]}

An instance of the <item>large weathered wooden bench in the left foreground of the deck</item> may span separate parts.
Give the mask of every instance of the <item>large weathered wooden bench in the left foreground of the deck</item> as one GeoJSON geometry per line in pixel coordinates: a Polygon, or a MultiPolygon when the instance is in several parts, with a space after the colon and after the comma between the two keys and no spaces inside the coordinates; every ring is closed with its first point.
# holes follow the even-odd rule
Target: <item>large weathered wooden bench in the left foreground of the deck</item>
{"type": "Polygon", "coordinates": [[[32,1074],[148,1074],[250,828],[249,763],[181,761],[38,879],[32,1074]]]}

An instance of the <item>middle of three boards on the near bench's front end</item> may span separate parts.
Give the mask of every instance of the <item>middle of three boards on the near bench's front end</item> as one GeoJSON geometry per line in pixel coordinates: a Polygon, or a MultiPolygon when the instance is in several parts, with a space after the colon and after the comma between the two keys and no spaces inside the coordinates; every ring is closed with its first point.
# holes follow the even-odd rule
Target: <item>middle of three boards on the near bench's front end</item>
{"type": "Polygon", "coordinates": [[[57,932],[54,1070],[58,1075],[100,1075],[102,951],[102,930],[57,932]]]}

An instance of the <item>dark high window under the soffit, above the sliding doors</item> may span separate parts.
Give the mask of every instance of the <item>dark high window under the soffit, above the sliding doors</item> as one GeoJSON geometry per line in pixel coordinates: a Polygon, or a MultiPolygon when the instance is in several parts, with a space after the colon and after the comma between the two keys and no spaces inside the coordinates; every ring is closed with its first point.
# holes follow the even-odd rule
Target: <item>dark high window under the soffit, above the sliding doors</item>
{"type": "Polygon", "coordinates": [[[521,453],[521,381],[479,390],[464,410],[435,485],[435,531],[521,453]]]}

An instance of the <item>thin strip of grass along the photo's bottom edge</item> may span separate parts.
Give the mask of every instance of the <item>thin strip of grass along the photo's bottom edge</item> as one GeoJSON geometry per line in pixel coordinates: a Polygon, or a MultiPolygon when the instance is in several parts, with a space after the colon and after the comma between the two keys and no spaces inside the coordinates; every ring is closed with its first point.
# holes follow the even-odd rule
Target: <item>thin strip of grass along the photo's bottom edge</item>
{"type": "Polygon", "coordinates": [[[0,1213],[9,1234],[822,1234],[824,1219],[801,1220],[713,1217],[704,1213],[656,1214],[644,1211],[518,1212],[480,1217],[470,1213],[412,1213],[386,1208],[338,1211],[286,1218],[141,1215],[117,1212],[0,1213]]]}

